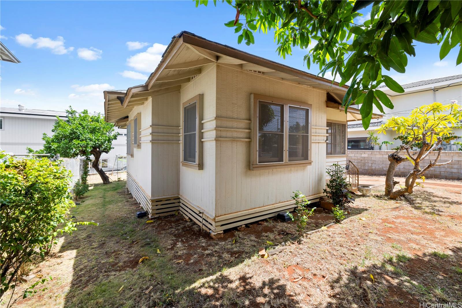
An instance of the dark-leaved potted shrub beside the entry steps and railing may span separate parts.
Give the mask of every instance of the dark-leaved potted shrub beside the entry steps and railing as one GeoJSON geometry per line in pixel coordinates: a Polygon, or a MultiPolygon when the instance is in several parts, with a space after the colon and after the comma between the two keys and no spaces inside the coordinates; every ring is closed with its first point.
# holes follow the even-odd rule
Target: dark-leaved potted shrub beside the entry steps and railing
{"type": "Polygon", "coordinates": [[[348,183],[345,178],[345,169],[339,164],[334,164],[327,168],[329,182],[326,184],[327,189],[324,189],[326,196],[334,203],[334,205],[345,209],[348,203],[353,203],[354,198],[348,190],[348,183]]]}

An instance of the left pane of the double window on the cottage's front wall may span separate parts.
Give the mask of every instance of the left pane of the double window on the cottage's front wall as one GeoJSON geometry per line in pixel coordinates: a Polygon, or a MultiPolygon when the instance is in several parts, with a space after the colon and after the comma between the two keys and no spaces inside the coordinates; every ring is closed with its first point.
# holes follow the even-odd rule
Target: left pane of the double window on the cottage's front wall
{"type": "Polygon", "coordinates": [[[258,103],[258,163],[284,161],[284,105],[258,103]]]}

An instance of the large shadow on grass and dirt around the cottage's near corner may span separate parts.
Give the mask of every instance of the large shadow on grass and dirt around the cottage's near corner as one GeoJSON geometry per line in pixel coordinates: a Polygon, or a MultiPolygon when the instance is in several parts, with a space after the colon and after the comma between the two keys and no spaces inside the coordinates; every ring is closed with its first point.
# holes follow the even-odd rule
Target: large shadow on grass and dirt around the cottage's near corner
{"type": "MultiPolygon", "coordinates": [[[[73,209],[78,221],[99,225],[79,227],[61,246],[60,253],[76,251],[64,307],[299,307],[278,277],[255,285],[222,273],[245,266],[268,242],[289,240],[294,223],[268,219],[213,240],[182,215],[136,219],[139,204],[124,187],[95,185],[73,209]],[[142,257],[149,259],[139,264],[142,257]]],[[[353,207],[349,216],[364,210],[353,207]]],[[[333,220],[326,212],[312,218],[306,231],[333,220]]]]}

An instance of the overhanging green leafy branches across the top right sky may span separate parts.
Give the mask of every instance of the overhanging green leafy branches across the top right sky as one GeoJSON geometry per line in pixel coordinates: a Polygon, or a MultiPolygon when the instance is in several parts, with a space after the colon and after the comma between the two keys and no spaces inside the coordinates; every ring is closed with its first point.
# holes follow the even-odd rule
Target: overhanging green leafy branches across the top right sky
{"type": "MultiPolygon", "coordinates": [[[[207,5],[207,0],[196,0],[207,5]]],[[[458,46],[456,64],[462,62],[462,1],[449,0],[226,0],[236,16],[225,23],[238,33],[237,43],[255,43],[253,33],[274,31],[279,55],[295,46],[306,50],[307,68],[319,66],[320,75],[340,76],[340,85],[350,83],[342,105],[361,105],[365,129],[372,105],[393,109],[384,92],[404,92],[387,71],[404,73],[407,58],[415,56],[414,42],[440,44],[440,59],[458,46]],[[357,17],[368,7],[368,18],[357,17]],[[356,18],[356,19],[355,19],[356,18]]],[[[214,1],[216,3],[216,1],[214,1]]]]}

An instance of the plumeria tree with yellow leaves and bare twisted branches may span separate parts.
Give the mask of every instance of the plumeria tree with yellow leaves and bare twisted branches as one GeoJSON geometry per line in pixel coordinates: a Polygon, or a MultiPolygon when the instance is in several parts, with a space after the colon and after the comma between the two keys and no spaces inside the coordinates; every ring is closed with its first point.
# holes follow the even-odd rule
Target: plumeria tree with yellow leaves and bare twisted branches
{"type": "Polygon", "coordinates": [[[448,138],[455,137],[453,129],[462,120],[461,105],[457,101],[450,104],[433,103],[423,105],[411,111],[407,117],[391,117],[379,128],[379,133],[386,134],[387,129],[394,130],[397,134],[405,136],[405,142],[393,153],[388,155],[390,162],[385,179],[385,195],[396,199],[406,193],[412,194],[413,188],[421,185],[417,180],[425,181],[425,172],[435,166],[443,166],[452,160],[438,162],[441,156],[441,143],[448,138]],[[419,144],[416,151],[413,146],[419,144]],[[433,151],[437,151],[435,159],[430,160],[426,166],[421,168],[420,164],[433,151]],[[401,153],[406,154],[401,156],[401,153]],[[405,161],[413,164],[413,169],[406,177],[403,187],[394,191],[395,185],[399,182],[394,180],[396,167],[405,161]]]}

